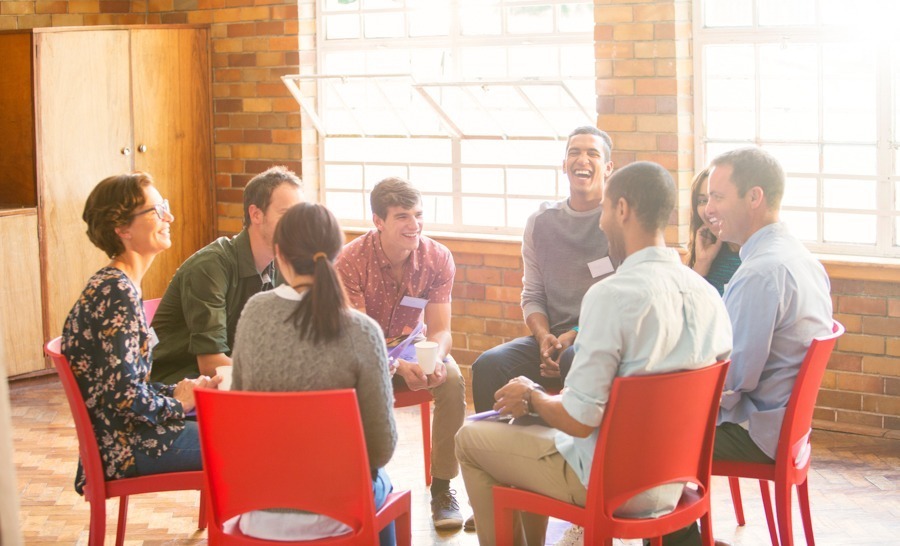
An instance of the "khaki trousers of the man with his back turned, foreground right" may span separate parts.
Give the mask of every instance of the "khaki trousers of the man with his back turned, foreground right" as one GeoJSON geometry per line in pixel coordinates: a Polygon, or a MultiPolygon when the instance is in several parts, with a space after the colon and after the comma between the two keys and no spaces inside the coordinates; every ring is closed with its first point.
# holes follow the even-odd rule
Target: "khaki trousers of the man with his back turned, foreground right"
{"type": "MultiPolygon", "coordinates": [[[[578,506],[585,505],[587,491],[556,450],[556,432],[554,428],[540,425],[476,421],[457,433],[456,456],[475,511],[475,529],[481,546],[495,543],[494,485],[511,485],[578,506]]],[[[515,544],[544,544],[545,516],[517,514],[514,526],[515,544]]]]}

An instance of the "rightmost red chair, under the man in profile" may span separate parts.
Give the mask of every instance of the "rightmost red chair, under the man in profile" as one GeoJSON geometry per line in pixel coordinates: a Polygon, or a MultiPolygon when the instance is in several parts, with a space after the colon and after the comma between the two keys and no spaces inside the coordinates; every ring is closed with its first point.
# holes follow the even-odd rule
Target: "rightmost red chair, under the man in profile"
{"type": "Polygon", "coordinates": [[[843,325],[834,321],[832,333],[813,339],[806,351],[806,357],[800,364],[800,373],[794,383],[794,391],[788,400],[784,421],[781,424],[781,435],[775,451],[775,464],[713,461],[713,475],[728,476],[734,515],[738,525],[745,523],[738,479],[759,480],[772,546],[779,545],[779,534],[783,546],[791,546],[794,543],[791,529],[791,487],[795,485],[797,486],[797,501],[800,504],[800,516],[803,520],[806,543],[810,546],[815,544],[812,517],[809,511],[809,488],[806,481],[812,451],[809,436],[812,432],[812,415],[816,405],[816,395],[819,393],[819,385],[822,383],[822,376],[825,374],[825,367],[828,365],[834,344],[843,333],[843,325]],[[769,495],[770,481],[775,482],[775,507],[778,511],[777,532],[775,518],[772,514],[772,497],[769,495]]]}

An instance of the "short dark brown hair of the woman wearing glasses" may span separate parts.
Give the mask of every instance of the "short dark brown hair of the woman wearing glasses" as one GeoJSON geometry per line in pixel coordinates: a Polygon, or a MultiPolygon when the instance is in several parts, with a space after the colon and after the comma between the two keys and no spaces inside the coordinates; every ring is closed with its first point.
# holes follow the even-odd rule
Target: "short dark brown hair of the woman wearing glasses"
{"type": "Polygon", "coordinates": [[[88,195],[81,219],[88,225],[88,238],[110,258],[125,252],[116,228],[131,223],[134,211],[147,202],[144,188],[152,184],[147,173],[119,174],[104,178],[88,195]]]}

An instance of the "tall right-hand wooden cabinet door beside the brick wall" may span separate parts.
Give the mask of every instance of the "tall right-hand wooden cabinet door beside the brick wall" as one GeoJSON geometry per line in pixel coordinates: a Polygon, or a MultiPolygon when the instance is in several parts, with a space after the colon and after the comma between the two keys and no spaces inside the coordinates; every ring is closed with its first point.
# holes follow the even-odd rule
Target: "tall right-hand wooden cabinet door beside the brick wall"
{"type": "Polygon", "coordinates": [[[175,215],[172,248],[144,277],[145,298],[162,296],[175,270],[213,236],[208,44],[205,29],[131,34],[135,168],[153,176],[175,215]]]}

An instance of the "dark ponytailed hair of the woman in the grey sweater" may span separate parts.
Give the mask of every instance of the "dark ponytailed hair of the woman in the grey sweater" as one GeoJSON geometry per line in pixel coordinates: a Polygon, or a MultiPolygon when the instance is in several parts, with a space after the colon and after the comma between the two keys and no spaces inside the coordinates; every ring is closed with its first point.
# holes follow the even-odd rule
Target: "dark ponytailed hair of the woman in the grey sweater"
{"type": "Polygon", "coordinates": [[[295,273],[313,276],[309,294],[291,314],[301,337],[313,343],[337,339],[349,313],[344,287],[334,269],[344,245],[337,219],[322,205],[299,203],[278,221],[273,241],[295,273]]]}

